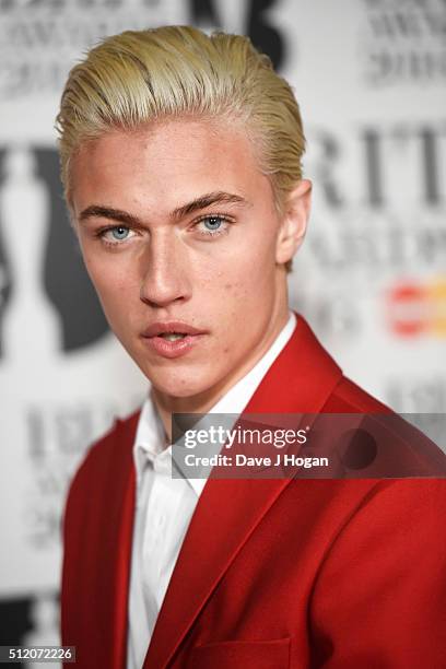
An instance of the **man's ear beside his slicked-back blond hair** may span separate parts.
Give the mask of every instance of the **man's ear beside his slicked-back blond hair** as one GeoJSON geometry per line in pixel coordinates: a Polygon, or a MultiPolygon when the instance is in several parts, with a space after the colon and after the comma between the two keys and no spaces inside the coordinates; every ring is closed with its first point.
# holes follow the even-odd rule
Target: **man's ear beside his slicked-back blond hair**
{"type": "Polygon", "coordinates": [[[310,204],[312,181],[301,179],[284,204],[275,246],[275,261],[279,265],[291,260],[304,240],[310,204]]]}

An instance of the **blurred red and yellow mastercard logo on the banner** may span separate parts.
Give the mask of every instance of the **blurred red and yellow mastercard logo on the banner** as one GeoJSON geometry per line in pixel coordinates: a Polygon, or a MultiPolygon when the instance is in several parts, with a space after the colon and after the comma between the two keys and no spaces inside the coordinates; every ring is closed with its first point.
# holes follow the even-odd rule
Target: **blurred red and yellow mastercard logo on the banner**
{"type": "Polygon", "coordinates": [[[386,320],[400,337],[446,337],[446,278],[399,282],[386,294],[386,320]]]}

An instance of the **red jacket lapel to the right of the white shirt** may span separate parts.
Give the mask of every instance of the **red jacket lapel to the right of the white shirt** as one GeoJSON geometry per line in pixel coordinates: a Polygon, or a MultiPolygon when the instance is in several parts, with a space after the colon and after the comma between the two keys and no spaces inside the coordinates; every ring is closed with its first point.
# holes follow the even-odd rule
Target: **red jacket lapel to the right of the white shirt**
{"type": "MultiPolygon", "coordinates": [[[[292,338],[244,413],[317,413],[341,377],[338,365],[297,316],[292,338]]],[[[208,480],[183,542],[144,669],[167,665],[237,552],[291,480],[208,480]]]]}

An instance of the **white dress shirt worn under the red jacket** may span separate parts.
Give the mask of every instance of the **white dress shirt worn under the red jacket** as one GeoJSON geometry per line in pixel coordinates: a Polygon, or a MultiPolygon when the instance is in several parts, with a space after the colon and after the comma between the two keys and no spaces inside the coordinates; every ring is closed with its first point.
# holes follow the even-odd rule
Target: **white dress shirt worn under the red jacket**
{"type": "MultiPolygon", "coordinates": [[[[208,413],[240,414],[287,343],[296,325],[290,312],[285,327],[246,376],[208,413]]],[[[172,446],[153,400],[141,410],[133,446],[137,504],[129,590],[128,669],[141,669],[153,627],[187,528],[207,479],[173,479],[172,446]]]]}

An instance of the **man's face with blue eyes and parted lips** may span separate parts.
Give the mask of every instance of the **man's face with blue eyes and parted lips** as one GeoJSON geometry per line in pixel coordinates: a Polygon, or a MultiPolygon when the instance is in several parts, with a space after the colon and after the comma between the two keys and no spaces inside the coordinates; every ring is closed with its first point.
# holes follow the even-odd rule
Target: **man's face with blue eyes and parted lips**
{"type": "Polygon", "coordinates": [[[71,186],[105,315],[153,386],[212,397],[244,376],[287,307],[281,221],[243,132],[192,119],[114,131],[83,144],[71,186]]]}

